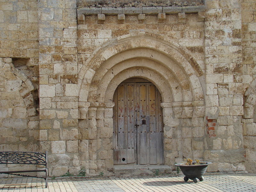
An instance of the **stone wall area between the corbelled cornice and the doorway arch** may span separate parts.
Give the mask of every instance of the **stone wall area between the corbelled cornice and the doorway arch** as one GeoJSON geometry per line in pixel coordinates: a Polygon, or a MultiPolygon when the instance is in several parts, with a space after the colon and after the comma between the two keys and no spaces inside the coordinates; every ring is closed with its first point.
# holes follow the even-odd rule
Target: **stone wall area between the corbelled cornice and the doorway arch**
{"type": "Polygon", "coordinates": [[[102,21],[98,14],[85,16],[78,14],[78,64],[82,65],[92,55],[92,52],[106,41],[145,31],[166,36],[188,49],[200,67],[204,69],[204,22],[200,15],[183,13],[184,19],[180,20],[181,16],[178,14],[161,13],[164,19],[159,21],[158,14],[124,14],[123,23],[119,23],[122,20],[121,15],[106,14],[102,21]],[[142,20],[141,16],[143,16],[142,20]]]}

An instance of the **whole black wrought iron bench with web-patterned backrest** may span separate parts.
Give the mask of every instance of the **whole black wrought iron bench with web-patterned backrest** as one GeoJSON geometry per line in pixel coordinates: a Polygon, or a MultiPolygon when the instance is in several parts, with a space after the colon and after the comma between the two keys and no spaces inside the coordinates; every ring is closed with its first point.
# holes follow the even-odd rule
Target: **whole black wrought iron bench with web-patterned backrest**
{"type": "Polygon", "coordinates": [[[45,188],[47,188],[47,151],[41,152],[20,152],[20,151],[0,151],[0,164],[34,164],[44,165],[44,169],[37,170],[17,170],[17,171],[0,171],[0,173],[18,175],[23,177],[43,178],[45,180],[45,188]],[[45,172],[45,177],[36,177],[30,175],[22,175],[18,173],[24,172],[45,172]]]}

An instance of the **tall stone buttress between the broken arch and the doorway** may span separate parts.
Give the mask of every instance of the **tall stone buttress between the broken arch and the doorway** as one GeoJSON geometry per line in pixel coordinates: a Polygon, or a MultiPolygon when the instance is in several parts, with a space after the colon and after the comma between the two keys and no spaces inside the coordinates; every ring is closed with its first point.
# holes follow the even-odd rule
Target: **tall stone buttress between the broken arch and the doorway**
{"type": "Polygon", "coordinates": [[[40,149],[50,175],[78,173],[76,0],[40,1],[40,149]]]}

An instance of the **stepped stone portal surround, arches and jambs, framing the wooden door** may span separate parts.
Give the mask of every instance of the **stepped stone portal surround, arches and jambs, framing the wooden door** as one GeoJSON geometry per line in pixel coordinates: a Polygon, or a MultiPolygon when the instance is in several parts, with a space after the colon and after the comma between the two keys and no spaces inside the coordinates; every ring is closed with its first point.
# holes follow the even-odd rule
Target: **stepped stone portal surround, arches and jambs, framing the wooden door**
{"type": "MultiPolygon", "coordinates": [[[[87,153],[80,155],[81,161],[86,156],[92,172],[122,167],[113,166],[113,94],[119,84],[132,77],[149,80],[161,93],[164,165],[173,165],[183,155],[191,157],[192,142],[198,139],[189,135],[178,136],[182,123],[192,122],[191,118],[196,118],[198,123],[194,125],[201,127],[204,94],[199,77],[203,74],[193,57],[171,40],[166,41],[166,37],[140,33],[103,44],[85,61],[78,75],[79,118],[81,123],[87,123],[88,119],[88,129],[79,126],[84,132],[81,144],[87,142],[89,148],[87,153]]],[[[190,124],[186,126],[190,127],[190,124]]],[[[201,158],[199,155],[203,152],[196,150],[193,154],[201,158]]]]}

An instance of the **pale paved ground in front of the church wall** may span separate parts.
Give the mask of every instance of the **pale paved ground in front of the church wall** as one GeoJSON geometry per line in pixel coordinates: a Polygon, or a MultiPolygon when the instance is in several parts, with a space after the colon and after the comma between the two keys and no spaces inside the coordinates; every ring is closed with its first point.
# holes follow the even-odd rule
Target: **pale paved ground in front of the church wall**
{"type": "Polygon", "coordinates": [[[256,174],[213,174],[194,183],[183,177],[52,179],[1,178],[0,192],[256,192],[256,174]]]}

